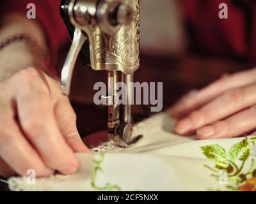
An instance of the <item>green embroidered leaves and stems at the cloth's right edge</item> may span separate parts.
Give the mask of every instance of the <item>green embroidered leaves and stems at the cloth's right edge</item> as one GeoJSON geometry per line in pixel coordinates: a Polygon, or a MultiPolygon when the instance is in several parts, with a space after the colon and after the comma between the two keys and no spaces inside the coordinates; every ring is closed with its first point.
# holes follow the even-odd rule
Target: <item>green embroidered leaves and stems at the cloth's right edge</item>
{"type": "Polygon", "coordinates": [[[227,153],[223,147],[217,144],[201,147],[203,154],[215,162],[214,168],[207,165],[205,167],[214,172],[212,177],[216,177],[216,179],[220,179],[225,172],[228,183],[226,187],[237,191],[239,186],[255,177],[255,159],[248,159],[252,153],[250,145],[255,144],[256,138],[244,138],[241,142],[233,145],[227,153]],[[237,161],[240,161],[239,164],[237,161]],[[250,163],[248,170],[244,169],[246,163],[250,163]]]}

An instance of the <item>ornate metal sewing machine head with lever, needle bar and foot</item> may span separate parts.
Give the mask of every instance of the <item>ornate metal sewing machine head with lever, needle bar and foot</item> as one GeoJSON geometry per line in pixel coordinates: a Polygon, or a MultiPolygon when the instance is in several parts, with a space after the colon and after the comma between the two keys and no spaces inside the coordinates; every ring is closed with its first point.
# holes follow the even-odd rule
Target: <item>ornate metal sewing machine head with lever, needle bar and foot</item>
{"type": "MultiPolygon", "coordinates": [[[[131,105],[116,105],[115,84],[132,82],[140,66],[140,0],[63,0],[61,16],[72,45],[61,73],[65,94],[70,92],[77,57],[86,68],[108,71],[109,139],[126,147],[131,143],[131,105]]],[[[129,86],[127,86],[129,87],[129,86]]],[[[127,88],[126,101],[131,97],[127,88]]]]}

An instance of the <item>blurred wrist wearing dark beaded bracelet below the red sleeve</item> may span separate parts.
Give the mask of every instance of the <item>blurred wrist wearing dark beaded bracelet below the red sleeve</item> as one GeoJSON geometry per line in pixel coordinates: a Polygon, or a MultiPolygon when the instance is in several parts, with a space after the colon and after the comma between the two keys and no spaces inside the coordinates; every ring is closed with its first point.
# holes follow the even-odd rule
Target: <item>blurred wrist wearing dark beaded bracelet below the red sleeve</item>
{"type": "MultiPolygon", "coordinates": [[[[35,20],[8,15],[2,19],[0,30],[0,80],[16,71],[36,67],[47,71],[49,59],[45,59],[47,43],[40,25],[35,20]],[[18,36],[18,37],[17,37],[18,36]],[[20,39],[19,39],[20,36],[20,39]]],[[[49,58],[49,55],[47,56],[49,58]]]]}

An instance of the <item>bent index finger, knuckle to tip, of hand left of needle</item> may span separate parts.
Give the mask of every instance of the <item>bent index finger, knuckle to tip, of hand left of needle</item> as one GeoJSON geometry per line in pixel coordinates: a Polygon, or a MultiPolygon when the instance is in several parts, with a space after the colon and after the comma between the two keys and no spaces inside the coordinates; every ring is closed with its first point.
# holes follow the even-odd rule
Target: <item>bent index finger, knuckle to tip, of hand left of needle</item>
{"type": "Polygon", "coordinates": [[[28,77],[24,83],[17,93],[17,107],[28,140],[47,166],[64,174],[74,173],[79,162],[58,129],[47,85],[38,77],[28,77]]]}

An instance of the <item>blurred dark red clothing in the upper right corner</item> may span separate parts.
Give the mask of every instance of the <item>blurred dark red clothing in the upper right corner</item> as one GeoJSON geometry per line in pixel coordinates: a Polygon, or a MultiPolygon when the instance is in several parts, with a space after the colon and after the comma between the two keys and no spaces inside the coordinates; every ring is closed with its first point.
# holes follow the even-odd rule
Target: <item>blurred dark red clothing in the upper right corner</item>
{"type": "Polygon", "coordinates": [[[256,1],[184,0],[184,6],[193,48],[256,62],[256,1]],[[228,19],[218,16],[221,3],[228,19]]]}

